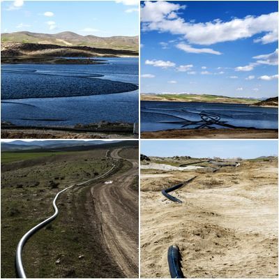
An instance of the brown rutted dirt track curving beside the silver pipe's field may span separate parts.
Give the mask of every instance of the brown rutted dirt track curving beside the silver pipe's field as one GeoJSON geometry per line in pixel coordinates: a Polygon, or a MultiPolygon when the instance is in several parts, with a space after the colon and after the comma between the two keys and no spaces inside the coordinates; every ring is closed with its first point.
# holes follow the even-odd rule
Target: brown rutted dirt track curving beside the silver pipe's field
{"type": "MultiPolygon", "coordinates": [[[[119,149],[111,157],[120,159],[119,149]]],[[[128,160],[128,159],[126,159],[128,160]]],[[[138,163],[129,160],[132,167],[124,173],[110,176],[112,184],[98,183],[91,187],[90,198],[94,206],[94,220],[103,237],[110,257],[121,269],[124,277],[138,277],[138,193],[130,186],[138,173],[138,163]]]]}

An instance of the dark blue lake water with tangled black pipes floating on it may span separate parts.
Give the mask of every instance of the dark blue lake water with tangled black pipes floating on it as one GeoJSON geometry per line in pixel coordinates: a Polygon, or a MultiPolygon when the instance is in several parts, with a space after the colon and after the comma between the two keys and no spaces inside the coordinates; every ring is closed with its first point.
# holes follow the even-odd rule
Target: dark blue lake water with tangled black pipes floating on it
{"type": "Polygon", "coordinates": [[[141,130],[181,128],[254,127],[278,128],[278,109],[220,103],[141,101],[141,130]],[[209,121],[211,121],[209,123],[209,121]]]}

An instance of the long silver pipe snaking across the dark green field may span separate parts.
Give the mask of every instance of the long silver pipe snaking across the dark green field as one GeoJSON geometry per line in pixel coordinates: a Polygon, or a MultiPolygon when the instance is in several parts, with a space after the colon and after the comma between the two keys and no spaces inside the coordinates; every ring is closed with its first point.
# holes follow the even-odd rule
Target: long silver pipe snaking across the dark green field
{"type": "MultiPolygon", "coordinates": [[[[118,160],[118,159],[116,159],[116,160],[118,160]]],[[[36,225],[35,227],[33,227],[32,229],[30,229],[26,234],[24,234],[24,236],[22,236],[22,239],[20,239],[20,242],[17,244],[17,251],[16,251],[16,254],[15,254],[15,269],[16,269],[16,273],[17,273],[18,278],[27,278],[27,276],[24,272],[23,264],[22,264],[22,250],[23,250],[23,247],[24,247],[25,243],[27,243],[28,239],[33,234],[38,232],[38,230],[41,229],[42,227],[45,227],[45,225],[52,222],[52,220],[54,220],[56,218],[56,216],[58,216],[59,211],[58,211],[57,206],[56,206],[56,199],[59,197],[59,195],[61,193],[63,193],[64,191],[72,188],[73,186],[81,186],[81,185],[84,185],[85,183],[89,183],[90,181],[102,178],[103,176],[105,176],[106,174],[111,172],[112,169],[114,169],[114,167],[115,167],[115,165],[112,163],[112,168],[110,170],[108,170],[107,172],[105,172],[105,174],[102,174],[102,175],[100,175],[100,176],[98,176],[94,179],[89,179],[89,180],[84,181],[82,183],[73,184],[73,185],[61,190],[59,193],[56,194],[56,196],[54,197],[54,200],[52,202],[52,206],[53,206],[53,209],[54,209],[54,214],[52,216],[50,216],[49,218],[45,219],[43,222],[36,225]]]]}

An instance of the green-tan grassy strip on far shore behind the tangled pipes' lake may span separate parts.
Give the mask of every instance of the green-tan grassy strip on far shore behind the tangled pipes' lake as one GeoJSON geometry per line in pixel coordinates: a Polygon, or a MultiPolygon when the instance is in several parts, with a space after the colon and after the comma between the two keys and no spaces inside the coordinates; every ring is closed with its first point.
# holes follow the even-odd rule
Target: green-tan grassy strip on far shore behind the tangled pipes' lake
{"type": "Polygon", "coordinates": [[[259,100],[248,98],[230,98],[227,96],[206,95],[206,94],[141,94],[141,100],[161,100],[176,102],[204,102],[204,103],[235,103],[252,105],[259,100]]]}

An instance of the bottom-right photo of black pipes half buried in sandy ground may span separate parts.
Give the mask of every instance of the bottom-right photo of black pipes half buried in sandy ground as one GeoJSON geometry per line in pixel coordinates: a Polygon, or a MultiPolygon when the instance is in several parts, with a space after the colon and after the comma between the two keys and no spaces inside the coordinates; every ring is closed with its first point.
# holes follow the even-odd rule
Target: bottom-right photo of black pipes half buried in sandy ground
{"type": "Polygon", "coordinates": [[[277,140],[142,140],[141,278],[276,278],[277,140]]]}

